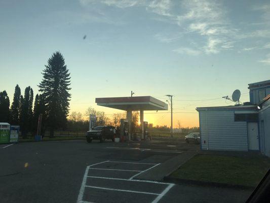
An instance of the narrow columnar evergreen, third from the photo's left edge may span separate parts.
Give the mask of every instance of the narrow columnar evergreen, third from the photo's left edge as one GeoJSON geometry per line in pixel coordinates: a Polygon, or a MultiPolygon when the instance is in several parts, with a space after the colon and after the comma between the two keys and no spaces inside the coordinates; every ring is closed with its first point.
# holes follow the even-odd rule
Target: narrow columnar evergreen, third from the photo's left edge
{"type": "Polygon", "coordinates": [[[21,116],[20,116],[20,128],[22,137],[27,137],[27,132],[31,131],[32,122],[32,106],[33,106],[33,90],[32,88],[26,87],[24,91],[24,97],[21,98],[21,116]]]}

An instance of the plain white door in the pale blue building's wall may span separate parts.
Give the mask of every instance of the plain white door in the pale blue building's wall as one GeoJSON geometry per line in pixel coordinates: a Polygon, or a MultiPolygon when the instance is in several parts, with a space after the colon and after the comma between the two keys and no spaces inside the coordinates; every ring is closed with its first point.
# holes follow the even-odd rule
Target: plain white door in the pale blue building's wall
{"type": "Polygon", "coordinates": [[[259,150],[258,123],[248,122],[248,149],[259,150]]]}

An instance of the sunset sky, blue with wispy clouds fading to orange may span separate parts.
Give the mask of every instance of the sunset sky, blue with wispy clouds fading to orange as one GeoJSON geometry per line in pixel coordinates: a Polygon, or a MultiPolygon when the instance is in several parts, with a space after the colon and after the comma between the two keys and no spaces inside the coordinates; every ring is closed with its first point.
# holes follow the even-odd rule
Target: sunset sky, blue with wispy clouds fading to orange
{"type": "MultiPolygon", "coordinates": [[[[37,84],[60,51],[71,76],[70,112],[96,97],[173,95],[174,127],[199,126],[196,107],[227,106],[235,89],[270,79],[270,2],[1,0],[0,91],[37,84]],[[86,36],[85,39],[84,36],[86,36]]],[[[170,112],[145,112],[170,126],[170,112]]]]}

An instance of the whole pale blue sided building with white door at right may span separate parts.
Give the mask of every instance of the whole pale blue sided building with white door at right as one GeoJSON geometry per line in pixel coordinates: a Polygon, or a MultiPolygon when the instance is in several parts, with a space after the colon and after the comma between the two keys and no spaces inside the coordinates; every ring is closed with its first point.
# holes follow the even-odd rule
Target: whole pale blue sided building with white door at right
{"type": "Polygon", "coordinates": [[[251,104],[197,108],[202,150],[260,150],[270,156],[270,95],[262,94],[270,92],[270,80],[249,89],[251,104]]]}

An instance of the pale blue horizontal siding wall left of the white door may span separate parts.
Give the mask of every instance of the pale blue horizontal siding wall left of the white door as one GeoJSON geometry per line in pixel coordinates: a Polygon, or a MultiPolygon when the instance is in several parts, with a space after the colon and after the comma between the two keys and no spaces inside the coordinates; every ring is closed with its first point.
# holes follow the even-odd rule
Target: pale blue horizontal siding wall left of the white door
{"type": "Polygon", "coordinates": [[[234,111],[200,111],[199,119],[202,149],[248,150],[247,123],[235,122],[234,111]]]}

